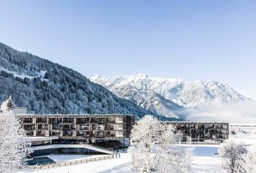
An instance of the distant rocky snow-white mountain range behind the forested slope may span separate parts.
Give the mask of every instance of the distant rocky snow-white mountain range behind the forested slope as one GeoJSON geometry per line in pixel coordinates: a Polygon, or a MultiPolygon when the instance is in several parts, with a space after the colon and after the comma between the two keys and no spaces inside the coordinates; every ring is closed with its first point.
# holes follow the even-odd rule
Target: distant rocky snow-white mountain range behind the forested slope
{"type": "Polygon", "coordinates": [[[218,81],[184,81],[146,75],[90,78],[110,89],[118,97],[131,100],[163,117],[185,117],[186,108],[221,106],[250,100],[218,81]]]}

